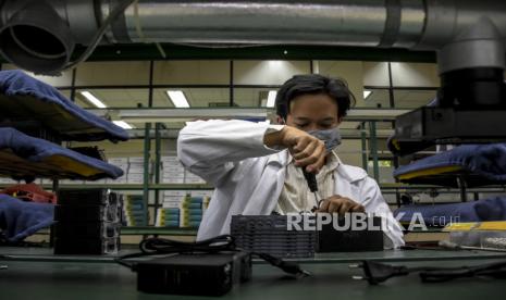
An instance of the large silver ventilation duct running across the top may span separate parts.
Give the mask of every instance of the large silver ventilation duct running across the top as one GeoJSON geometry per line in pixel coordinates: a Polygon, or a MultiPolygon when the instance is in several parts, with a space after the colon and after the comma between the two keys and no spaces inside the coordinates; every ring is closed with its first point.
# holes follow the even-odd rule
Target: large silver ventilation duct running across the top
{"type": "Polygon", "coordinates": [[[55,70],[74,41],[89,45],[108,15],[128,1],[102,42],[395,47],[439,51],[442,73],[504,68],[504,0],[5,0],[2,54],[32,71],[55,70]],[[39,20],[23,13],[35,3],[39,20]]]}

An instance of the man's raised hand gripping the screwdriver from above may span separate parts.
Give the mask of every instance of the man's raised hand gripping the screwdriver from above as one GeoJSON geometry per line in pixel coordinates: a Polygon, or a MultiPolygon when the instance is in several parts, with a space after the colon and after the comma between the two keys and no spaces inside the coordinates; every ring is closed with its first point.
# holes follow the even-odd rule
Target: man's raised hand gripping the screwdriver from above
{"type": "Polygon", "coordinates": [[[325,163],[325,145],[320,139],[292,126],[285,126],[277,133],[266,135],[263,142],[268,147],[288,148],[295,165],[305,167],[309,173],[318,173],[325,163]]]}

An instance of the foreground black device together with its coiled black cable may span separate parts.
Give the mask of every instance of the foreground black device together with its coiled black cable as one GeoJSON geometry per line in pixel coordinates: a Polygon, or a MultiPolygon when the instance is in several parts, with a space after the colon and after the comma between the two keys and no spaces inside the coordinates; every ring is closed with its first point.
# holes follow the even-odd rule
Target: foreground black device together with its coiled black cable
{"type": "Polygon", "coordinates": [[[140,252],[116,258],[115,261],[137,272],[137,289],[145,292],[224,295],[234,285],[251,278],[252,255],[296,278],[309,275],[295,262],[237,248],[234,238],[230,235],[196,242],[147,238],[140,241],[139,249],[140,252]],[[157,258],[131,260],[150,255],[157,258]]]}

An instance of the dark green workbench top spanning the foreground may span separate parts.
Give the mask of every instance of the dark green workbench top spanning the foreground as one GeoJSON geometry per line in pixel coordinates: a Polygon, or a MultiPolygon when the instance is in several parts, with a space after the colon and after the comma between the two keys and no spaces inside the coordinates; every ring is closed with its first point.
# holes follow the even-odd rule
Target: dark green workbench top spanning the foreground
{"type": "MultiPolygon", "coordinates": [[[[113,262],[113,257],[53,255],[52,249],[0,248],[0,299],[212,299],[138,292],[136,274],[113,262]]],[[[122,253],[123,254],[123,253],[122,253]]],[[[465,278],[443,284],[422,284],[417,274],[396,277],[378,286],[355,280],[361,270],[349,264],[375,260],[408,266],[458,266],[506,260],[506,252],[391,250],[379,252],[320,253],[299,260],[312,275],[286,276],[260,261],[254,262],[252,279],[220,299],[504,299],[502,279],[465,278]]],[[[198,288],[198,283],[195,283],[198,288]]]]}

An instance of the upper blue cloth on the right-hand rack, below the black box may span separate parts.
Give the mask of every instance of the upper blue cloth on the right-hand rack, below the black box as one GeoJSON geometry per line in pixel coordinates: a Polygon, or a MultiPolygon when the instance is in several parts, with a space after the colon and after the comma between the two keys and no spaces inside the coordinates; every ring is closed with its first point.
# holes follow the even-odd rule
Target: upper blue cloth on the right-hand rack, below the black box
{"type": "MultiPolygon", "coordinates": [[[[394,176],[441,166],[461,166],[485,180],[506,182],[506,143],[464,145],[394,171],[394,176]]],[[[493,183],[490,183],[493,184],[493,183]]]]}

